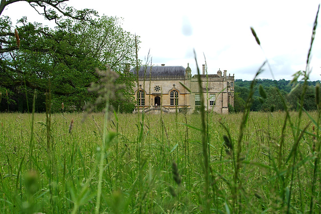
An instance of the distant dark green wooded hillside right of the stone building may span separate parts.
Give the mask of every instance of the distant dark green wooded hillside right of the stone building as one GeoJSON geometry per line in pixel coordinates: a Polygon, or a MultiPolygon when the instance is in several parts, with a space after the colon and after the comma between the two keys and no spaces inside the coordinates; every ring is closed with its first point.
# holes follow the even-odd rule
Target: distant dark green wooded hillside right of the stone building
{"type": "MultiPolygon", "coordinates": [[[[255,93],[250,100],[252,103],[251,111],[273,111],[284,110],[284,105],[280,94],[284,97],[284,100],[290,110],[296,110],[298,101],[301,97],[303,81],[297,82],[298,85],[290,84],[290,80],[269,80],[269,79],[257,79],[255,85],[255,93]],[[259,86],[262,85],[266,98],[262,99],[259,95],[259,86]],[[295,87],[294,87],[295,86],[295,87]],[[277,89],[277,88],[278,89],[277,89]],[[293,89],[293,90],[292,90],[293,89]],[[291,91],[292,90],[292,91],[291,91]],[[262,102],[263,101],[263,102],[262,102]]],[[[241,112],[244,110],[245,103],[248,99],[250,86],[252,81],[238,79],[235,80],[234,87],[234,110],[235,112],[241,112]]],[[[320,81],[309,81],[304,95],[304,109],[307,111],[316,110],[315,104],[315,85],[320,81]]]]}

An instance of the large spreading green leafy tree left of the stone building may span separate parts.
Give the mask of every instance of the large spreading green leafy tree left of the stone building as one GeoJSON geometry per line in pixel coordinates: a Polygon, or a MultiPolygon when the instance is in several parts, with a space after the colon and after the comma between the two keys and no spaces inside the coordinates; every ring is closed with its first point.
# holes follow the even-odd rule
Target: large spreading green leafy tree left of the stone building
{"type": "MultiPolygon", "coordinates": [[[[58,4],[65,1],[29,2],[42,7],[40,2],[58,4]]],[[[65,106],[80,110],[85,102],[95,97],[95,94],[88,94],[87,91],[90,83],[99,79],[95,68],[105,69],[106,64],[120,74],[118,81],[126,85],[121,93],[117,92],[118,97],[130,98],[132,77],[124,71],[135,60],[134,35],[121,28],[121,20],[118,18],[103,16],[94,19],[84,15],[89,15],[89,10],[85,10],[82,17],[81,13],[74,13],[73,9],[65,8],[63,11],[59,5],[56,5],[56,9],[69,18],[55,16],[55,29],[43,27],[39,23],[28,23],[27,18],[18,22],[19,27],[16,28],[21,41],[20,49],[12,35],[0,41],[3,43],[3,52],[0,53],[0,91],[3,94],[8,91],[9,96],[5,97],[8,98],[7,102],[21,103],[26,100],[25,94],[37,90],[39,105],[42,105],[44,93],[50,86],[55,101],[53,109],[58,110],[64,102],[65,106]]],[[[51,10],[46,11],[46,7],[44,10],[48,19],[56,14],[51,10]],[[49,16],[49,12],[52,16],[49,16]]],[[[1,34],[3,32],[14,32],[8,17],[0,18],[0,35],[4,35],[1,34]]],[[[113,104],[124,103],[128,102],[118,99],[113,104]]],[[[19,106],[19,110],[26,110],[26,104],[19,106]]],[[[0,110],[4,110],[4,107],[0,110]]]]}

